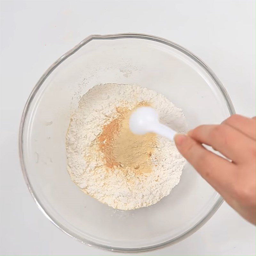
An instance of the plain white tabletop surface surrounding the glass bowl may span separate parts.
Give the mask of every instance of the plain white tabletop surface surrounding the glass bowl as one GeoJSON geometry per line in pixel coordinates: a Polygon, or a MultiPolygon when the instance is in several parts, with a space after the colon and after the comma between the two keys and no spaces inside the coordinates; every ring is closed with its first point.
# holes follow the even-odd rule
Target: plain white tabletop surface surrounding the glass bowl
{"type": "MultiPolygon", "coordinates": [[[[236,112],[254,116],[254,2],[1,1],[1,255],[111,255],[52,225],[23,180],[20,116],[46,68],[90,34],[148,33],[199,56],[226,87],[236,112]]],[[[254,226],[224,203],[195,234],[146,255],[255,253],[254,226]]]]}

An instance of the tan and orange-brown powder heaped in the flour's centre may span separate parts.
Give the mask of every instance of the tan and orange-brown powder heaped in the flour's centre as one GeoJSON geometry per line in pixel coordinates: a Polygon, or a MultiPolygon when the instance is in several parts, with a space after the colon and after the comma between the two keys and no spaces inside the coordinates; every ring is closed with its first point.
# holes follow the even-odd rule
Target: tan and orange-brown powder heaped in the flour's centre
{"type": "MultiPolygon", "coordinates": [[[[150,104],[142,101],[135,108],[140,106],[150,106],[150,104]]],[[[116,108],[118,116],[103,126],[103,131],[98,137],[99,148],[109,168],[117,166],[127,170],[129,167],[136,173],[151,172],[150,157],[156,144],[156,135],[133,134],[129,129],[129,117],[132,111],[125,107],[116,108]]]]}

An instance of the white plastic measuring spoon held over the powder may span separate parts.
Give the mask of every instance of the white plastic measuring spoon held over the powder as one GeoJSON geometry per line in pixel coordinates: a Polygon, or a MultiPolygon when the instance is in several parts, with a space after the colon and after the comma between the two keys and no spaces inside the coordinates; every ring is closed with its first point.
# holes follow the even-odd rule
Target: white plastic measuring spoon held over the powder
{"type": "Polygon", "coordinates": [[[156,110],[150,107],[137,108],[130,116],[129,127],[134,134],[143,135],[148,132],[155,132],[169,140],[173,140],[176,133],[168,126],[159,123],[156,110]]]}

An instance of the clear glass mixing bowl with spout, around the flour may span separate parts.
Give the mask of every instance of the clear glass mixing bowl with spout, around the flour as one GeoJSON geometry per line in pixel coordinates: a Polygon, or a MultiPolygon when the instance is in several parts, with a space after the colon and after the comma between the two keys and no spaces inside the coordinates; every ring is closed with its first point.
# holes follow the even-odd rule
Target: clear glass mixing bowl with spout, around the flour
{"type": "Polygon", "coordinates": [[[22,115],[20,162],[37,206],[66,234],[105,250],[145,252],[184,239],[222,203],[189,164],[169,196],[132,211],[101,204],[70,180],[65,150],[70,115],[79,97],[100,83],[161,92],[183,109],[189,128],[235,113],[211,69],[178,44],[143,34],[89,36],[44,73],[22,115]]]}

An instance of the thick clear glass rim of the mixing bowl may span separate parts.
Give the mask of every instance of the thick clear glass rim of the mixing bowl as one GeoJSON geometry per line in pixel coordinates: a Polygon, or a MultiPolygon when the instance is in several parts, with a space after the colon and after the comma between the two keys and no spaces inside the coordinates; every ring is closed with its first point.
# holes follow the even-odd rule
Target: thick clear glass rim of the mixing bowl
{"type": "Polygon", "coordinates": [[[33,88],[32,92],[30,93],[30,95],[28,97],[28,100],[25,104],[25,107],[24,107],[24,110],[23,110],[23,113],[22,113],[22,116],[21,116],[20,128],[19,128],[19,157],[20,157],[20,165],[21,165],[23,177],[25,179],[25,182],[27,184],[27,187],[28,187],[28,190],[29,190],[30,194],[32,195],[32,197],[33,197],[34,201],[36,202],[36,205],[40,209],[40,211],[56,227],[60,228],[60,230],[62,230],[68,236],[71,236],[72,238],[74,238],[74,239],[76,239],[76,240],[80,241],[81,243],[86,244],[88,246],[94,246],[98,249],[102,249],[102,250],[105,250],[105,251],[112,251],[112,252],[124,252],[124,253],[125,252],[127,252],[127,253],[136,253],[137,252],[138,253],[138,252],[149,252],[149,251],[157,250],[157,249],[175,244],[175,243],[185,239],[186,237],[190,236],[191,234],[196,232],[200,227],[202,227],[212,217],[212,215],[216,212],[216,210],[222,204],[223,198],[221,196],[219,196],[217,202],[212,206],[212,208],[209,210],[209,212],[200,221],[198,221],[193,227],[188,229],[186,232],[184,232],[180,236],[177,236],[177,237],[175,237],[171,240],[165,241],[163,243],[155,244],[155,245],[152,245],[152,246],[134,247],[134,248],[112,247],[112,246],[107,246],[107,245],[103,245],[103,244],[100,244],[100,243],[95,243],[95,242],[92,242],[90,240],[84,239],[81,236],[78,236],[74,232],[70,231],[68,228],[64,227],[61,223],[59,223],[56,219],[54,219],[47,212],[47,210],[44,208],[44,206],[41,204],[40,200],[38,199],[38,197],[36,196],[36,194],[33,190],[32,184],[30,183],[29,178],[28,178],[28,173],[27,173],[25,161],[24,161],[24,158],[23,158],[23,143],[22,143],[23,142],[23,133],[24,133],[24,124],[25,124],[25,121],[26,121],[26,118],[27,118],[28,109],[30,107],[30,104],[31,104],[32,100],[34,99],[37,91],[39,90],[41,85],[44,83],[45,79],[52,73],[52,71],[55,68],[57,68],[64,60],[66,60],[68,57],[73,55],[81,47],[83,47],[85,44],[89,43],[92,40],[99,40],[99,39],[100,40],[115,40],[115,39],[124,39],[124,38],[146,39],[146,40],[149,40],[149,41],[155,41],[155,42],[158,42],[158,43],[162,43],[162,44],[170,46],[170,47],[184,53],[188,57],[190,57],[197,64],[199,64],[208,73],[208,75],[212,78],[212,80],[215,82],[216,86],[218,87],[218,89],[222,93],[222,95],[223,95],[223,97],[224,97],[224,99],[227,103],[227,107],[228,107],[230,115],[235,114],[235,109],[234,109],[234,106],[233,106],[233,104],[230,100],[230,97],[228,96],[228,92],[226,91],[226,89],[224,88],[224,86],[222,85],[222,83],[220,82],[218,77],[213,73],[213,71],[201,59],[199,59],[195,54],[188,51],[187,49],[180,46],[179,44],[176,44],[172,41],[169,41],[167,39],[164,39],[164,38],[161,38],[161,37],[158,37],[158,36],[152,36],[152,35],[140,34],[140,33],[120,33],[120,34],[108,34],[108,35],[98,35],[98,34],[96,35],[95,34],[95,35],[90,35],[90,36],[86,37],[83,41],[81,41],[79,44],[77,44],[71,50],[69,50],[64,55],[62,55],[58,60],[56,60],[44,72],[44,74],[41,76],[39,81],[36,83],[35,87],[33,88]]]}

